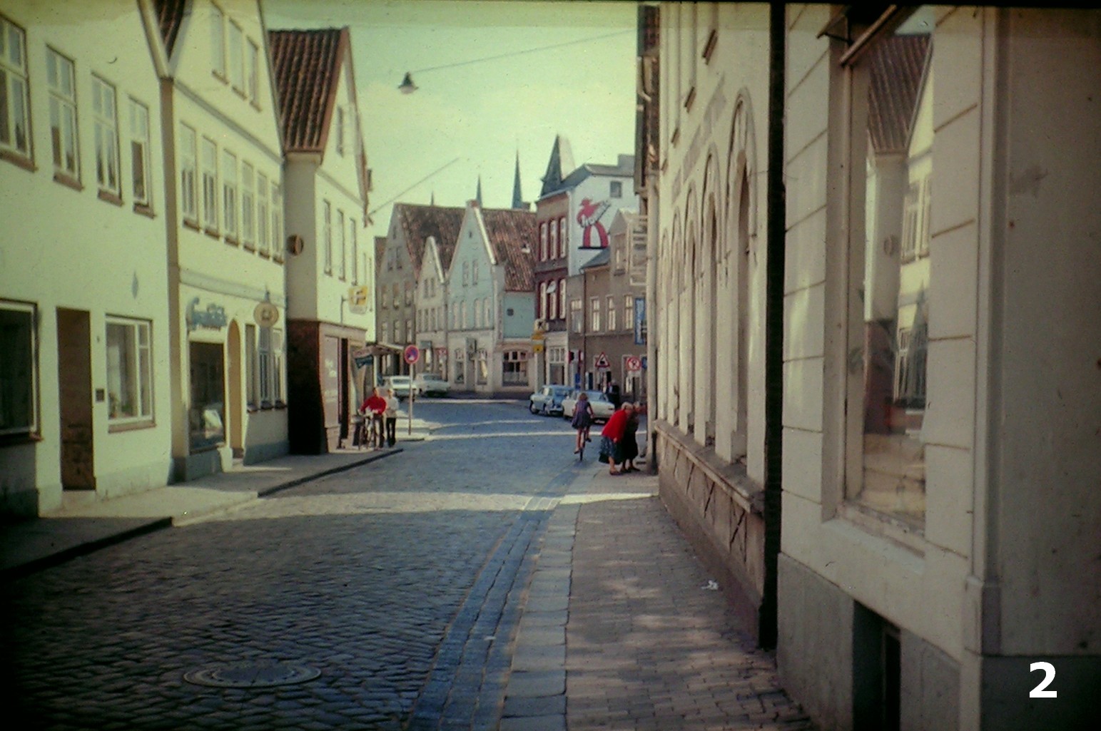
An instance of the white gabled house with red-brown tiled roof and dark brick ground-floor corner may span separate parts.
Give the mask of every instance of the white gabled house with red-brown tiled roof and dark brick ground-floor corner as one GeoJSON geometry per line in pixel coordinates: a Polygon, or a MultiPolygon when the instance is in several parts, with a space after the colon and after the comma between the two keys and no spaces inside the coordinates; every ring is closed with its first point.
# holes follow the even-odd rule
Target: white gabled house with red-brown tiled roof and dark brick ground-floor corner
{"type": "Polygon", "coordinates": [[[287,391],[291,450],[349,436],[363,401],[355,353],[374,335],[370,188],[347,28],[270,31],[286,156],[287,391]],[[301,243],[301,246],[299,246],[301,243]]]}

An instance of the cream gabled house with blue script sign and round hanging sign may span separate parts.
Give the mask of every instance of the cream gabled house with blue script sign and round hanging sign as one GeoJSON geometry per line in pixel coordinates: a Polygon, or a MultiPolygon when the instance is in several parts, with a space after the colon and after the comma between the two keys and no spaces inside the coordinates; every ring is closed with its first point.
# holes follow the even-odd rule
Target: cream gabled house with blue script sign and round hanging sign
{"type": "Polygon", "coordinates": [[[155,0],[174,477],[287,451],[283,146],[257,0],[155,0]]]}

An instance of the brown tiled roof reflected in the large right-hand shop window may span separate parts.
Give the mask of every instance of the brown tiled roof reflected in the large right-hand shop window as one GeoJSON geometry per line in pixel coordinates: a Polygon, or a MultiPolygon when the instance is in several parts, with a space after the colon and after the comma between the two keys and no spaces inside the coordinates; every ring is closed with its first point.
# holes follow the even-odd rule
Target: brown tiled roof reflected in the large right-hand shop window
{"type": "Polygon", "coordinates": [[[894,35],[876,44],[868,92],[868,133],[875,152],[901,152],[909,143],[928,52],[928,35],[894,35]]]}

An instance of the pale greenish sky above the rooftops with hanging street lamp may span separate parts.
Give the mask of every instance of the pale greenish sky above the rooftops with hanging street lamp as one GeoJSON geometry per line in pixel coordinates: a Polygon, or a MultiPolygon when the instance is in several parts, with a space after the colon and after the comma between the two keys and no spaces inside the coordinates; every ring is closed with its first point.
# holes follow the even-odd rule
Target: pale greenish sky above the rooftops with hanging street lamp
{"type": "Polygon", "coordinates": [[[479,174],[482,204],[510,206],[517,149],[524,200],[534,201],[556,133],[569,140],[576,165],[614,164],[634,151],[634,2],[263,0],[263,8],[269,29],[351,31],[370,208],[379,209],[371,236],[385,236],[391,198],[427,204],[435,193],[436,205],[462,206],[479,174]],[[466,63],[515,52],[527,53],[466,63]],[[416,73],[438,66],[453,67],[416,73]],[[397,90],[405,72],[419,87],[411,95],[397,90]]]}

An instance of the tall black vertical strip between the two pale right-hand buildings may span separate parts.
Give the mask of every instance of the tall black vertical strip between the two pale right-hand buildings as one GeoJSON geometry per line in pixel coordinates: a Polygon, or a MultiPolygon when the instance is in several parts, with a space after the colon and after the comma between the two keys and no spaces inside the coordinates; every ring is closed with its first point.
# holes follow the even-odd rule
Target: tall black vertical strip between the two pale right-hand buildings
{"type": "Polygon", "coordinates": [[[768,3],[768,175],[764,323],[764,593],[760,644],[776,646],[777,581],[783,509],[784,410],[784,188],[785,4],[768,3]]]}

